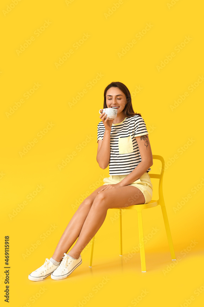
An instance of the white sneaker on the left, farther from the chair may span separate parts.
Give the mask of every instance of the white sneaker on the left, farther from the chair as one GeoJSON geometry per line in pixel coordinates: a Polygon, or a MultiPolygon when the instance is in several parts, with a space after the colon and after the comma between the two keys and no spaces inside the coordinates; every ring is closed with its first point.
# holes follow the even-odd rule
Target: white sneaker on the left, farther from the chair
{"type": "Polygon", "coordinates": [[[48,258],[46,258],[45,263],[41,267],[28,275],[28,279],[34,282],[43,280],[47,276],[51,275],[52,272],[58,268],[58,266],[59,264],[55,266],[48,258]]]}

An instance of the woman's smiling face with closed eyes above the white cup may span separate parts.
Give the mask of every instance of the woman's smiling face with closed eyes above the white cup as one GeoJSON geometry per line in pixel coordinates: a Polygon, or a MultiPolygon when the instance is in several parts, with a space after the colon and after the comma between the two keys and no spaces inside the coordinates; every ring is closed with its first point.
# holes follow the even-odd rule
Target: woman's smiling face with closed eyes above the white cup
{"type": "Polygon", "coordinates": [[[125,94],[118,87],[110,87],[106,92],[106,104],[108,108],[118,107],[117,114],[124,110],[127,103],[125,94]]]}

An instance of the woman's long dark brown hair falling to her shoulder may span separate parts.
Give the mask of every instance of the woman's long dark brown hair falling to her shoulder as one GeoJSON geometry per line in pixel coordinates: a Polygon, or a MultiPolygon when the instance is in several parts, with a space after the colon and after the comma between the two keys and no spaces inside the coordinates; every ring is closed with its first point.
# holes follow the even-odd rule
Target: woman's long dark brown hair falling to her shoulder
{"type": "MultiPolygon", "coordinates": [[[[103,103],[103,109],[107,108],[107,104],[106,104],[106,92],[110,87],[118,87],[125,95],[126,99],[127,99],[127,104],[124,107],[123,113],[125,115],[125,117],[132,117],[134,115],[139,115],[141,116],[140,113],[135,113],[132,107],[132,99],[131,99],[131,95],[130,95],[130,91],[128,90],[127,86],[125,86],[123,83],[121,82],[111,82],[108,86],[106,86],[105,90],[104,90],[104,103],[103,103]]],[[[142,116],[141,116],[142,117],[142,116]]]]}

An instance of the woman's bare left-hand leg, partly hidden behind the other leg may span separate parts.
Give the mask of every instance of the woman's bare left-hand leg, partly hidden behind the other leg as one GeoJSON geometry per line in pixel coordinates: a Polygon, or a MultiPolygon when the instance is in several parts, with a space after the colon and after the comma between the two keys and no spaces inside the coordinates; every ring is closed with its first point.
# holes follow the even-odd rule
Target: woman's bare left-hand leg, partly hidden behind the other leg
{"type": "Polygon", "coordinates": [[[67,253],[67,251],[69,251],[69,248],[78,238],[83,223],[86,220],[93,201],[98,195],[100,189],[101,186],[97,188],[93,193],[91,193],[91,195],[89,195],[85,200],[83,200],[83,202],[80,204],[79,208],[76,210],[71,220],[69,221],[69,224],[63,232],[61,239],[59,240],[59,243],[57,244],[57,247],[52,256],[52,258],[57,262],[60,262],[62,260],[62,257],[64,257],[64,253],[67,253]]]}

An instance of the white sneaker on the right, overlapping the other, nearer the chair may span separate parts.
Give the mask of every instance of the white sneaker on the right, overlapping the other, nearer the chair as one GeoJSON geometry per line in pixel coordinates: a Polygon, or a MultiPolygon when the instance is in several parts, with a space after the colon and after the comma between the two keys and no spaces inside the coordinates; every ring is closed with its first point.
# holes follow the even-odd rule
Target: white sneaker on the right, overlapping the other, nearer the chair
{"type": "Polygon", "coordinates": [[[82,263],[81,255],[78,259],[72,259],[67,254],[64,253],[64,257],[62,258],[62,262],[59,267],[51,274],[52,279],[63,279],[69,276],[73,270],[77,268],[82,263]]]}

